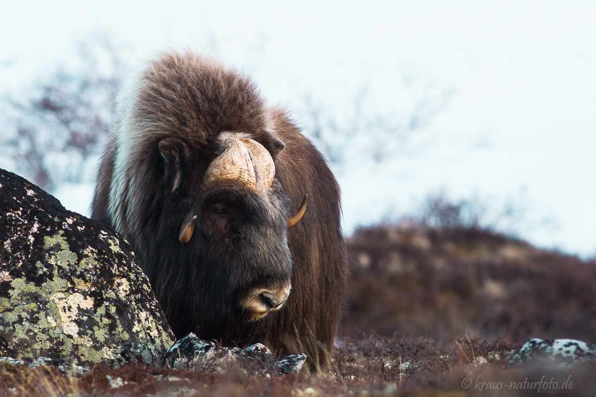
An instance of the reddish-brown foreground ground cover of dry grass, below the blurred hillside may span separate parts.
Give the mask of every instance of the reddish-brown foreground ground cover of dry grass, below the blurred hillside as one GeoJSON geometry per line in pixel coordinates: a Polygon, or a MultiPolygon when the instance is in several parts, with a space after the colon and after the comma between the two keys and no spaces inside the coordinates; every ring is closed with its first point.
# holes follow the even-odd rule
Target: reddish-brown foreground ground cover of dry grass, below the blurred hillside
{"type": "Polygon", "coordinates": [[[516,347],[466,336],[446,343],[370,335],[339,343],[327,372],[287,376],[257,367],[219,374],[137,364],[96,365],[76,378],[55,369],[13,366],[0,371],[0,396],[523,396],[535,395],[537,386],[530,388],[530,382],[543,377],[558,386],[544,384],[540,395],[590,395],[596,387],[594,364],[571,370],[508,368],[516,347]],[[561,389],[569,376],[573,385],[561,389]],[[498,383],[504,387],[488,389],[498,383]]]}

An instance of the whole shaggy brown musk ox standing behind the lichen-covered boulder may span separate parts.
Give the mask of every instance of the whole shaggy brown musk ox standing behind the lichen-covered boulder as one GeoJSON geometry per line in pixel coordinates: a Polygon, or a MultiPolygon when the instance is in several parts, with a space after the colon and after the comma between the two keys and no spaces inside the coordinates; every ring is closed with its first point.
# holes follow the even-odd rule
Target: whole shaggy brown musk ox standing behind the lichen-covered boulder
{"type": "Polygon", "coordinates": [[[92,217],[131,243],[176,336],[328,364],[347,262],[322,155],[249,77],[190,52],[123,98],[92,217]]]}

